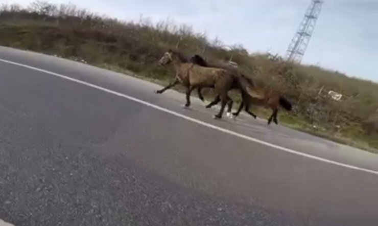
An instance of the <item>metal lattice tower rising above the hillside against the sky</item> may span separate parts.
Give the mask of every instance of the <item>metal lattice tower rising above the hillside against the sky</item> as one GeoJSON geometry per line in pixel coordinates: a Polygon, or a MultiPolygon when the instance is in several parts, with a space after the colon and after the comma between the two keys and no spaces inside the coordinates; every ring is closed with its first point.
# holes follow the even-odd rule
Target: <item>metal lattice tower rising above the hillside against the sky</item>
{"type": "Polygon", "coordinates": [[[304,14],[304,18],[299,25],[297,32],[289,44],[286,58],[289,61],[300,63],[304,52],[309,45],[310,38],[315,29],[316,20],[319,17],[323,1],[312,0],[309,8],[304,14]]]}

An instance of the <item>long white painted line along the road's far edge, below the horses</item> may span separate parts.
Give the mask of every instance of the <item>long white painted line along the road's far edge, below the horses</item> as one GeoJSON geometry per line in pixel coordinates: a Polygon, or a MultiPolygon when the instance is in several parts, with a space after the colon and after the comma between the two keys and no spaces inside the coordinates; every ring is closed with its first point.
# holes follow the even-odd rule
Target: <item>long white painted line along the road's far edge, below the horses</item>
{"type": "Polygon", "coordinates": [[[333,161],[333,160],[324,159],[322,157],[318,157],[318,156],[311,155],[311,154],[306,154],[306,153],[303,153],[303,152],[292,150],[290,148],[281,147],[281,146],[278,146],[278,145],[275,145],[275,144],[271,144],[269,142],[261,141],[261,140],[258,140],[258,139],[252,138],[252,137],[248,137],[247,135],[244,135],[244,134],[241,134],[241,133],[238,133],[238,132],[234,132],[234,131],[231,131],[231,130],[228,130],[228,129],[225,129],[225,128],[222,128],[222,127],[210,124],[210,123],[206,123],[206,122],[203,122],[201,120],[194,119],[194,118],[182,115],[182,114],[180,114],[178,112],[175,112],[175,111],[172,111],[172,110],[169,110],[169,109],[157,106],[155,104],[146,102],[144,100],[139,100],[137,98],[130,97],[128,95],[121,94],[121,93],[112,91],[110,89],[107,89],[107,88],[104,88],[104,87],[101,87],[101,86],[98,86],[98,85],[95,85],[95,84],[91,84],[91,83],[88,83],[88,82],[85,82],[85,81],[82,81],[82,80],[79,80],[79,79],[71,78],[71,77],[68,77],[68,76],[65,76],[65,75],[61,75],[61,74],[58,74],[58,73],[46,71],[46,70],[43,70],[43,69],[39,69],[37,67],[33,67],[33,66],[29,66],[29,65],[25,65],[25,64],[9,61],[9,60],[0,59],[0,61],[1,62],[5,62],[5,63],[9,63],[9,64],[13,64],[13,65],[17,65],[17,66],[21,66],[21,67],[25,67],[27,69],[31,69],[31,70],[34,70],[34,71],[38,71],[38,72],[43,72],[43,73],[46,73],[46,74],[54,75],[54,76],[57,76],[59,78],[63,78],[63,79],[69,80],[69,81],[80,83],[82,85],[86,85],[86,86],[89,86],[89,87],[92,87],[92,88],[100,89],[101,91],[104,91],[104,92],[107,92],[107,93],[110,93],[110,94],[113,94],[113,95],[116,95],[116,96],[119,96],[119,97],[123,97],[123,98],[129,99],[129,100],[135,101],[137,103],[140,103],[140,104],[144,104],[146,106],[149,106],[149,107],[152,107],[152,108],[155,108],[155,109],[167,112],[168,114],[180,117],[182,119],[186,119],[188,121],[191,121],[191,122],[194,122],[194,123],[206,126],[208,128],[212,128],[212,129],[215,129],[215,130],[218,130],[218,131],[221,131],[221,132],[225,132],[225,133],[234,135],[235,137],[239,137],[239,138],[242,138],[242,139],[245,139],[245,140],[248,140],[248,141],[252,141],[252,142],[255,142],[255,143],[258,143],[258,144],[266,145],[268,147],[275,148],[277,150],[281,150],[281,151],[285,151],[285,152],[288,152],[288,153],[300,155],[300,156],[303,156],[303,157],[308,157],[309,159],[318,160],[318,161],[321,161],[321,162],[324,162],[324,163],[329,163],[329,164],[333,164],[333,165],[337,165],[337,166],[341,166],[341,167],[345,167],[345,168],[349,168],[349,169],[359,170],[359,171],[363,171],[363,172],[367,172],[367,173],[372,173],[372,174],[378,175],[378,171],[374,171],[374,170],[370,170],[370,169],[366,169],[366,168],[362,168],[362,167],[358,167],[358,166],[352,166],[352,165],[348,165],[348,164],[345,164],[345,163],[340,163],[340,162],[333,161]]]}

